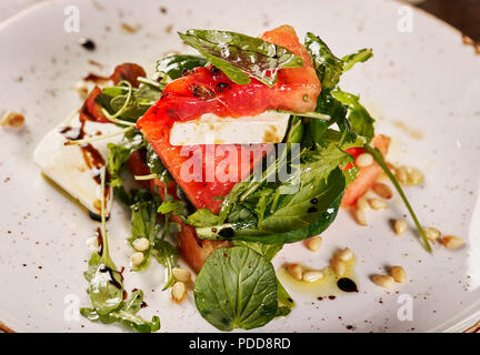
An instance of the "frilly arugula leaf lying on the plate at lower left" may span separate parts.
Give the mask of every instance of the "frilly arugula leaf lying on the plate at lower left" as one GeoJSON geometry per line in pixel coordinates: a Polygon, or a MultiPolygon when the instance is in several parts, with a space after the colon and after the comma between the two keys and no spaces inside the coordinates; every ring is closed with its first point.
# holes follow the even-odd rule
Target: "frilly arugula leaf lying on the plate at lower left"
{"type": "Polygon", "coordinates": [[[101,315],[96,308],[80,308],[80,314],[91,322],[101,322],[103,324],[123,323],[127,326],[140,333],[152,333],[160,328],[160,320],[153,316],[151,322],[144,321],[137,315],[143,303],[143,292],[141,290],[133,291],[127,301],[122,301],[117,311],[101,315]]]}

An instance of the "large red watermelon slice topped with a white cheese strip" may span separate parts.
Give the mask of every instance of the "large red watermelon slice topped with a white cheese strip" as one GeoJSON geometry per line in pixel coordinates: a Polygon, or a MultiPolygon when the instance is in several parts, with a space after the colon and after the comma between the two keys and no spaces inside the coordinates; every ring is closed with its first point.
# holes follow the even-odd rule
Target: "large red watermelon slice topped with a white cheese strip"
{"type": "MultiPolygon", "coordinates": [[[[266,110],[302,113],[313,111],[317,105],[320,82],[310,55],[293,28],[282,26],[266,32],[262,38],[301,55],[303,67],[279,70],[277,83],[272,88],[254,79],[246,85],[236,84],[216,68],[196,68],[169,83],[161,99],[138,121],[138,128],[197,209],[218,213],[221,205],[218,197],[226,196],[237,182],[249,176],[272,149],[272,144],[251,144],[248,148],[239,144],[202,144],[186,152],[184,148],[170,144],[170,130],[176,121],[196,120],[203,113],[232,118],[257,115],[266,110]],[[223,154],[207,158],[208,150],[218,149],[223,154]],[[242,159],[242,149],[249,150],[248,159],[242,159]],[[238,165],[228,168],[227,181],[221,176],[219,179],[218,173],[212,173],[223,169],[226,152],[228,155],[237,153],[238,158],[238,165]],[[186,176],[186,166],[192,163],[201,169],[186,176]],[[214,175],[213,179],[207,179],[210,175],[214,175]]],[[[192,166],[192,170],[196,169],[192,166]]]]}

